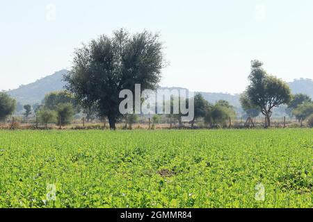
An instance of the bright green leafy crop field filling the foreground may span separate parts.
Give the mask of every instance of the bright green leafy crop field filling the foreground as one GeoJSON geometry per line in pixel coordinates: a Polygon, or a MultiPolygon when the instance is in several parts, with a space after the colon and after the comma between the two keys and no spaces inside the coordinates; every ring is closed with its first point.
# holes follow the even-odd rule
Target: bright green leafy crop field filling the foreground
{"type": "Polygon", "coordinates": [[[0,130],[0,207],[312,207],[312,135],[0,130]]]}

